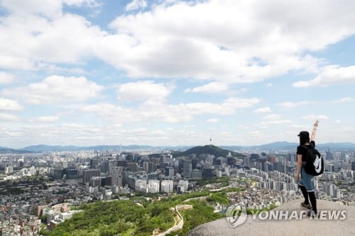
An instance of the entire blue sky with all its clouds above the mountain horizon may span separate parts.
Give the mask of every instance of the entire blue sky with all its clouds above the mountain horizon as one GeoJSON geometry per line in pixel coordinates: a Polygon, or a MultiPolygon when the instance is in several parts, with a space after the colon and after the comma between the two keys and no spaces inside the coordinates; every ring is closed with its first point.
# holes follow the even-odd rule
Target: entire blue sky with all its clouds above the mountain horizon
{"type": "Polygon", "coordinates": [[[0,146],[355,142],[354,8],[0,0],[0,146]]]}

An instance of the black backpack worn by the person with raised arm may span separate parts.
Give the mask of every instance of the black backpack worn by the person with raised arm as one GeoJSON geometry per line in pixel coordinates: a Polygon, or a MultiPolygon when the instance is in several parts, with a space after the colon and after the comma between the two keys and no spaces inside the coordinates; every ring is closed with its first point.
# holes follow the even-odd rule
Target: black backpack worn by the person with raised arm
{"type": "Polygon", "coordinates": [[[323,174],[324,160],[320,152],[315,147],[305,148],[307,148],[305,172],[313,176],[323,174]]]}

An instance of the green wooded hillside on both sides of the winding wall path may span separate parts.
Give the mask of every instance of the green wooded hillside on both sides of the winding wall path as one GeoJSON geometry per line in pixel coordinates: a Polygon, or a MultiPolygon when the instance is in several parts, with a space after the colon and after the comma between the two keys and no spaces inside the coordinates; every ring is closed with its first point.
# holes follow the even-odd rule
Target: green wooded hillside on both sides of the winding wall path
{"type": "Polygon", "coordinates": [[[223,215],[214,213],[212,205],[220,203],[229,204],[226,193],[241,191],[240,188],[227,188],[221,191],[200,191],[163,197],[160,201],[147,200],[141,196],[131,196],[129,200],[95,202],[75,210],[84,210],[82,213],[73,215],[65,220],[53,231],[41,230],[41,235],[92,235],[92,236],[114,236],[114,235],[152,235],[153,230],[163,232],[172,227],[175,223],[175,211],[173,207],[181,204],[191,204],[193,209],[180,210],[184,218],[184,227],[172,235],[187,235],[192,228],[207,223],[223,215]],[[206,199],[195,199],[206,196],[206,199]],[[192,198],[188,202],[187,199],[192,198]]]}

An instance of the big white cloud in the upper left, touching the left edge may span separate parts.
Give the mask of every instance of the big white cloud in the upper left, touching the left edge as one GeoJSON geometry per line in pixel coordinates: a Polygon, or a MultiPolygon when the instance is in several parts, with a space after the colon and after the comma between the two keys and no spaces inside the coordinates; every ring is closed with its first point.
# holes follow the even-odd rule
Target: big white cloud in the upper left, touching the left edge
{"type": "MultiPolygon", "coordinates": [[[[43,7],[52,16],[46,4],[43,7]]],[[[31,70],[43,69],[43,64],[79,64],[94,55],[96,42],[106,34],[84,17],[68,13],[52,19],[13,13],[1,18],[0,31],[1,35],[17,35],[0,38],[0,67],[31,70]]]]}

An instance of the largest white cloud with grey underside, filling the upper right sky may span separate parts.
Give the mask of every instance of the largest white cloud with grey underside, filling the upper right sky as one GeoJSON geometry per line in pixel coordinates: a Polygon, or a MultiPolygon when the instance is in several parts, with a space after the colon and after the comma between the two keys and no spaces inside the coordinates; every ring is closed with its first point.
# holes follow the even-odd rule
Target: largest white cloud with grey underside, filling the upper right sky
{"type": "Polygon", "coordinates": [[[152,11],[116,18],[111,28],[117,35],[104,41],[116,42],[117,47],[114,51],[107,47],[100,57],[132,77],[213,78],[231,83],[256,82],[290,69],[317,70],[320,60],[300,54],[355,33],[349,20],[355,16],[345,5],[332,1],[155,5],[152,11]],[[275,9],[282,11],[275,14],[275,9]],[[306,11],[317,14],[305,15],[306,11]]]}

